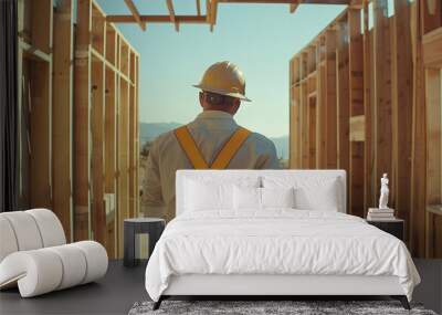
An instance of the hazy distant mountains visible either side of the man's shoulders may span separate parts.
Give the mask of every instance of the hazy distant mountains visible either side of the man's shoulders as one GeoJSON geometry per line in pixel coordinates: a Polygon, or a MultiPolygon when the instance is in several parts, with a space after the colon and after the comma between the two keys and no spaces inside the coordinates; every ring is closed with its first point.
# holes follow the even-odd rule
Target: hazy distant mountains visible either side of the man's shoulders
{"type": "MultiPolygon", "coordinates": [[[[145,143],[152,141],[159,135],[172,130],[182,124],[179,123],[139,123],[139,141],[143,146],[145,143]]],[[[288,135],[270,138],[276,147],[277,156],[288,159],[288,135]]]]}

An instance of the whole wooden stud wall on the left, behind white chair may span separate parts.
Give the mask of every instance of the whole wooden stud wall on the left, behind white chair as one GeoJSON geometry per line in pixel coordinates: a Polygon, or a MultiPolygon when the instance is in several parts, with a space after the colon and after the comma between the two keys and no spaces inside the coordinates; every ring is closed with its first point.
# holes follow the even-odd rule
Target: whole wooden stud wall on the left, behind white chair
{"type": "Polygon", "coordinates": [[[74,28],[73,2],[19,0],[20,207],[118,258],[139,214],[139,55],[93,0],[74,28]]]}

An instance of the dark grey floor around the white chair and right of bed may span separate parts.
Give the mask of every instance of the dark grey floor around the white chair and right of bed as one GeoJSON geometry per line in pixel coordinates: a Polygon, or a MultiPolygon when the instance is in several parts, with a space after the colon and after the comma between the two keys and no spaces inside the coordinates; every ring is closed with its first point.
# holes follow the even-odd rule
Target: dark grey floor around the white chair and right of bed
{"type": "MultiPolygon", "coordinates": [[[[415,260],[422,283],[414,301],[442,312],[442,260],[415,260]]],[[[17,290],[0,293],[0,314],[127,314],[137,301],[148,300],[145,266],[126,269],[112,261],[107,275],[91,283],[34,298],[21,298],[17,290]]]]}

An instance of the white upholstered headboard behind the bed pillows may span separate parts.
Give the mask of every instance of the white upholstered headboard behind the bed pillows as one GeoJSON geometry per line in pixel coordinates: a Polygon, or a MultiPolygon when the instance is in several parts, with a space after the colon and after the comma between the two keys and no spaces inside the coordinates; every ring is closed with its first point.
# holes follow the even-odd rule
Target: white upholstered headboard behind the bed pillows
{"type": "MultiPolygon", "coordinates": [[[[346,171],[336,170],[298,170],[298,169],[284,169],[284,170],[251,170],[251,169],[228,169],[228,170],[194,170],[182,169],[177,171],[176,176],[176,214],[179,216],[185,211],[186,200],[186,185],[188,180],[197,180],[203,182],[222,182],[235,183],[241,180],[256,179],[265,182],[267,179],[282,179],[303,182],[304,188],[308,188],[308,183],[315,183],[318,180],[333,180],[338,182],[337,199],[339,200],[338,211],[346,213],[347,211],[347,192],[346,192],[346,171]]],[[[312,186],[313,189],[315,187],[312,186]]]]}

